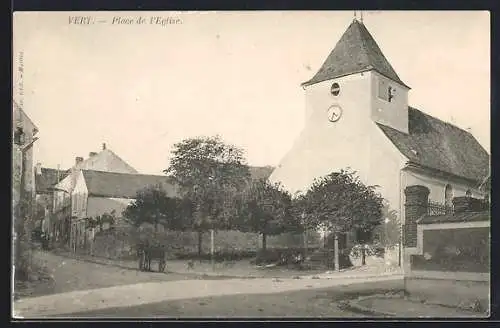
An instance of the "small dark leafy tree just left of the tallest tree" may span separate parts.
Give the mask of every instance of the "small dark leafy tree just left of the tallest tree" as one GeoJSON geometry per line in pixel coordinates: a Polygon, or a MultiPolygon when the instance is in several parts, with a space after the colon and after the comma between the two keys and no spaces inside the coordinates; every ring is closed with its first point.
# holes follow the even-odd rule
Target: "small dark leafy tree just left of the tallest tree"
{"type": "MultiPolygon", "coordinates": [[[[151,186],[137,192],[136,199],[123,211],[123,216],[135,227],[143,223],[154,226],[155,232],[158,225],[162,224],[169,228],[177,228],[179,225],[177,201],[168,197],[161,186],[151,186]]],[[[101,220],[109,219],[101,217],[101,220]]]]}

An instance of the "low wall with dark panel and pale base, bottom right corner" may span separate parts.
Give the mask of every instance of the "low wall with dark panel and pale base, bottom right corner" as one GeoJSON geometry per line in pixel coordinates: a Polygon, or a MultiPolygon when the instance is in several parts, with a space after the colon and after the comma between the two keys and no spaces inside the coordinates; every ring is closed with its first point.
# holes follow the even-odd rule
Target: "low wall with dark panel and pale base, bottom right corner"
{"type": "Polygon", "coordinates": [[[450,306],[479,302],[489,309],[490,228],[422,229],[421,252],[410,257],[407,292],[450,306]]]}

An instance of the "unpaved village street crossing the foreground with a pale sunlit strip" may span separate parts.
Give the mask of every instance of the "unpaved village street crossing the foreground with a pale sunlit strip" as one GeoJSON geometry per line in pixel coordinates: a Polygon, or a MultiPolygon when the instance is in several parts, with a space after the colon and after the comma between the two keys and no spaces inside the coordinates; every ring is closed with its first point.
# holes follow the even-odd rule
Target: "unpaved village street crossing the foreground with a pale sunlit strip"
{"type": "MultiPolygon", "coordinates": [[[[335,279],[223,279],[192,274],[140,272],[40,253],[55,284],[45,296],[16,302],[16,314],[40,317],[345,317],[335,302],[401,289],[397,276],[335,279]]],[[[35,296],[35,295],[33,295],[35,296]]]]}

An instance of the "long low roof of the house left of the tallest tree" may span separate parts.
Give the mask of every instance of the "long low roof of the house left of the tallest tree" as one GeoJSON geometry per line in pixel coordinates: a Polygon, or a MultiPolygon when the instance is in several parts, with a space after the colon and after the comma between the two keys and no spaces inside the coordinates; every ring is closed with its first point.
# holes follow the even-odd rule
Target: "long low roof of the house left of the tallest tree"
{"type": "Polygon", "coordinates": [[[177,196],[172,180],[163,175],[94,170],[82,170],[82,173],[89,196],[134,199],[138,191],[156,185],[161,185],[170,197],[177,196]]]}

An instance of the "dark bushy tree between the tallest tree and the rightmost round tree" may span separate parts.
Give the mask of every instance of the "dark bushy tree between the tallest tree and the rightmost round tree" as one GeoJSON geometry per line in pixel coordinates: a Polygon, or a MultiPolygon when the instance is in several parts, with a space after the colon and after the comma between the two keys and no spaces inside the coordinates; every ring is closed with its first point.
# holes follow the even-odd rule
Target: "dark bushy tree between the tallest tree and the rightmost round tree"
{"type": "Polygon", "coordinates": [[[260,233],[263,251],[268,235],[299,229],[292,216],[290,194],[279,184],[254,181],[238,198],[240,213],[234,225],[242,232],[260,233]]]}

